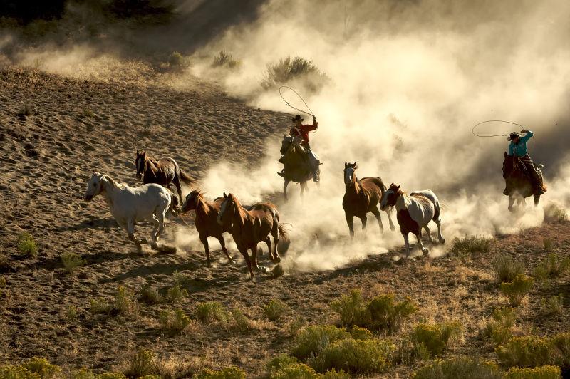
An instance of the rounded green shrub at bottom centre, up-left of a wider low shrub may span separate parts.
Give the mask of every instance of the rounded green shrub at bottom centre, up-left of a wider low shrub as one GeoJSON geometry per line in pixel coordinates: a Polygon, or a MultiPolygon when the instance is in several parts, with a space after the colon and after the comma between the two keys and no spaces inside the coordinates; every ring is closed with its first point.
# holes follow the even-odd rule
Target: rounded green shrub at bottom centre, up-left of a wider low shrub
{"type": "Polygon", "coordinates": [[[307,326],[295,338],[291,355],[299,359],[309,358],[311,354],[318,354],[329,344],[351,338],[351,334],[344,328],[333,325],[307,326]]]}

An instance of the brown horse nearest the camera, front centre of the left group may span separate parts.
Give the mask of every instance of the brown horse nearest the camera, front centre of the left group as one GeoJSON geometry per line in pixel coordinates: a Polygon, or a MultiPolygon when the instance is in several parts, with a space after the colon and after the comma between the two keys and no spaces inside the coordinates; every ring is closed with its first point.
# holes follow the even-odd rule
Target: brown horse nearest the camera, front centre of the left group
{"type": "Polygon", "coordinates": [[[251,278],[254,279],[253,266],[261,271],[266,271],[263,266],[257,264],[257,244],[265,242],[269,246],[271,260],[274,263],[281,261],[277,252],[279,238],[286,239],[283,225],[279,223],[279,212],[274,204],[269,202],[256,204],[251,210],[245,209],[233,194],[224,192],[224,201],[217,217],[218,224],[234,237],[237,249],[244,256],[251,278]],[[271,251],[271,237],[273,237],[274,249],[271,251]],[[252,259],[249,259],[247,251],[252,251],[252,259]]]}

